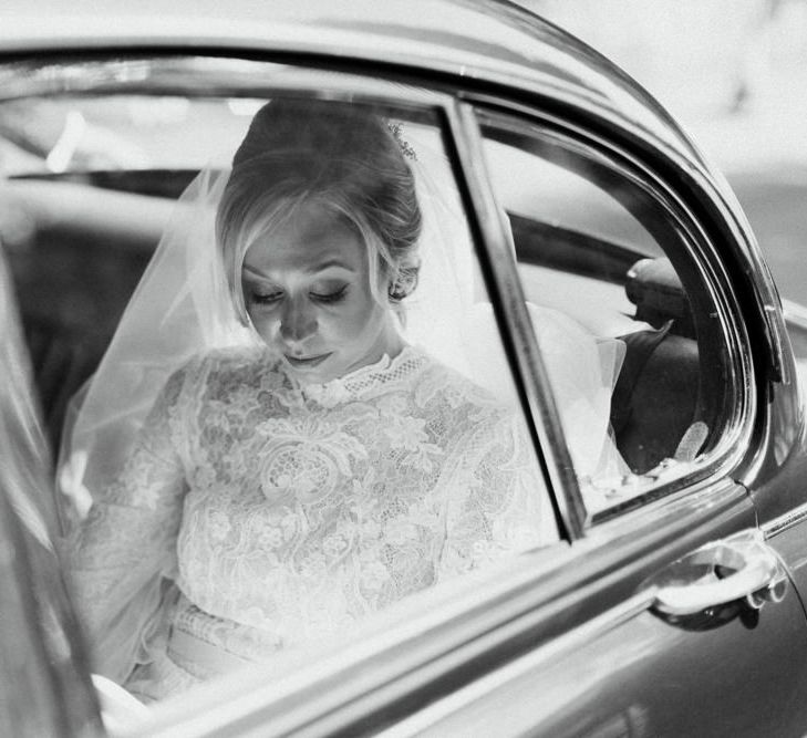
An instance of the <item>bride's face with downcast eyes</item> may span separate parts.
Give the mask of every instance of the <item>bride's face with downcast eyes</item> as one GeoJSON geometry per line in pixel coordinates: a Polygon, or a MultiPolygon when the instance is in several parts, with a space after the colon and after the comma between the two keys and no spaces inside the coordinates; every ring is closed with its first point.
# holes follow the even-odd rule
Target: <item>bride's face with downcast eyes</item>
{"type": "MultiPolygon", "coordinates": [[[[379,294],[386,280],[373,274],[379,294]]],[[[373,298],[366,247],[317,204],[256,241],[244,259],[247,312],[301,380],[322,383],[396,354],[393,315],[373,298]]]]}

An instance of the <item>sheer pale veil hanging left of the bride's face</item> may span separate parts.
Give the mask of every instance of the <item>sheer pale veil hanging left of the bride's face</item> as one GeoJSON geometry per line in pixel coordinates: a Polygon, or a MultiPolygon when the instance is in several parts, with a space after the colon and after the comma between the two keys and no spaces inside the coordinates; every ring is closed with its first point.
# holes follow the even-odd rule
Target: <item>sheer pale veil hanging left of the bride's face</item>
{"type": "Polygon", "coordinates": [[[168,377],[193,356],[257,345],[238,321],[215,242],[229,177],[208,166],[183,193],[97,371],[71,402],[59,462],[66,518],[117,477],[168,377]]]}

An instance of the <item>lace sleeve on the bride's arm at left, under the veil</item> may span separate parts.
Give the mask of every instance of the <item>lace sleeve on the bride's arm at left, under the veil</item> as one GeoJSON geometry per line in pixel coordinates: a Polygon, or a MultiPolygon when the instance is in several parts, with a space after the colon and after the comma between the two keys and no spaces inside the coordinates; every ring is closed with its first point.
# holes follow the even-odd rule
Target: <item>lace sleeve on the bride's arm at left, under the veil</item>
{"type": "Polygon", "coordinates": [[[123,682],[149,661],[158,636],[185,491],[177,451],[188,368],[166,383],[141,428],[123,471],[99,496],[68,541],[74,602],[93,653],[93,666],[123,682]]]}

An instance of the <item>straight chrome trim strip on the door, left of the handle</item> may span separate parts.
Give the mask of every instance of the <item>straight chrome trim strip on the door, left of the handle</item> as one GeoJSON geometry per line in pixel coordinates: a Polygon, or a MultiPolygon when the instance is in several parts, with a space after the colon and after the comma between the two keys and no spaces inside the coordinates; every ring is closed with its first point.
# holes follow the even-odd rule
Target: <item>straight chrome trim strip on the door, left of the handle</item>
{"type": "Polygon", "coordinates": [[[435,727],[444,718],[459,713],[468,705],[484,699],[497,689],[506,689],[508,684],[530,672],[540,674],[547,663],[557,663],[563,654],[575,652],[606,633],[623,625],[640,613],[649,610],[655,599],[655,588],[649,588],[618,606],[598,615],[588,623],[565,633],[550,643],[539,646],[526,656],[486,674],[476,682],[458,689],[420,713],[404,718],[395,726],[376,734],[380,738],[408,738],[435,727]]]}

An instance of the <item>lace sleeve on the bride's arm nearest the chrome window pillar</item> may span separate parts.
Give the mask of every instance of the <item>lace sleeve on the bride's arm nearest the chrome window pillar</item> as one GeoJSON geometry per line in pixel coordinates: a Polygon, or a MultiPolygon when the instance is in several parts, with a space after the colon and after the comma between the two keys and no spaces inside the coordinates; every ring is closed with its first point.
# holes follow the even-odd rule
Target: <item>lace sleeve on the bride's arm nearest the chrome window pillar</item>
{"type": "Polygon", "coordinates": [[[477,460],[448,500],[439,579],[558,540],[544,476],[519,418],[508,413],[479,424],[464,446],[463,456],[477,460]]]}

